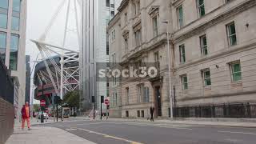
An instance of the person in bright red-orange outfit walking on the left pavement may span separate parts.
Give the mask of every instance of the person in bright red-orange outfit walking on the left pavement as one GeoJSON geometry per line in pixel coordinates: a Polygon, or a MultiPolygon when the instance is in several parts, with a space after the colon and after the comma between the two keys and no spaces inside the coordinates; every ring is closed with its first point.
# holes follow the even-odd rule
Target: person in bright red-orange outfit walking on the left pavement
{"type": "Polygon", "coordinates": [[[27,122],[27,128],[30,130],[30,106],[29,102],[26,102],[22,107],[22,130],[25,127],[25,121],[27,122]]]}

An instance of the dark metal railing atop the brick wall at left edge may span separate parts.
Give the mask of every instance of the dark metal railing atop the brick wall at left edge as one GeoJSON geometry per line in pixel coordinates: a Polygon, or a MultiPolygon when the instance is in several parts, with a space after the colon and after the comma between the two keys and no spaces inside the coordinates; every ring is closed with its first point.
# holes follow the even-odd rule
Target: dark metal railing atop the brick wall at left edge
{"type": "Polygon", "coordinates": [[[0,58],[0,98],[14,104],[14,84],[10,73],[0,58]]]}

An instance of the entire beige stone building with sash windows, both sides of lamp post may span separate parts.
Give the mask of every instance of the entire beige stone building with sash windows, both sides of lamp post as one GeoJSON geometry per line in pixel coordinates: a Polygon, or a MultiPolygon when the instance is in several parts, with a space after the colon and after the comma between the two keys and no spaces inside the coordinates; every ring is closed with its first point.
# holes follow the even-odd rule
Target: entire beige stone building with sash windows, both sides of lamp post
{"type": "Polygon", "coordinates": [[[160,77],[110,85],[112,114],[147,118],[154,106],[168,117],[171,89],[175,117],[256,116],[256,1],[123,0],[118,10],[110,61],[159,62],[160,77]]]}

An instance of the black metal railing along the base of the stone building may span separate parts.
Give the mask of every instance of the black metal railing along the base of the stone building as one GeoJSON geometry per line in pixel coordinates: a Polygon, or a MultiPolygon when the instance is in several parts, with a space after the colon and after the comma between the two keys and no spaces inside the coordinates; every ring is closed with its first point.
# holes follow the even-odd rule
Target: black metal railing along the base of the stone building
{"type": "Polygon", "coordinates": [[[256,103],[223,103],[210,106],[175,107],[175,118],[256,118],[256,103]]]}

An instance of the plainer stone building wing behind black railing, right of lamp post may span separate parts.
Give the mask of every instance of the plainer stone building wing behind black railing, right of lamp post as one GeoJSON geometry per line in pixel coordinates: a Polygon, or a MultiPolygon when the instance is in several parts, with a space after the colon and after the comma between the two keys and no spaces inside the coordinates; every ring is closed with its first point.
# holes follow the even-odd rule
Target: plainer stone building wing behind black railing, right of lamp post
{"type": "Polygon", "coordinates": [[[256,1],[173,0],[170,14],[177,116],[255,116],[256,1]]]}

